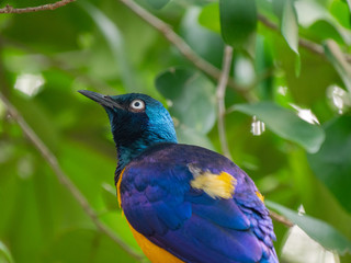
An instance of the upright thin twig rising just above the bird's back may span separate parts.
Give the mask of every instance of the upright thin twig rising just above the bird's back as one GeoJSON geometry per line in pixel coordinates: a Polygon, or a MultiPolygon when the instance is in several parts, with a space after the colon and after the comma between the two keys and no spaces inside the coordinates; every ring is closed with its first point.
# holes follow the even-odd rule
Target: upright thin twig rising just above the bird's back
{"type": "Polygon", "coordinates": [[[225,129],[226,107],[225,107],[224,99],[226,94],[226,88],[227,88],[229,71],[231,67],[231,60],[233,60],[233,47],[226,45],[224,49],[222,75],[218,81],[216,96],[217,96],[217,105],[218,105],[218,135],[220,140],[220,147],[222,147],[223,153],[229,159],[231,159],[231,157],[230,157],[230,151],[228,147],[228,141],[226,138],[226,129],[225,129]]]}

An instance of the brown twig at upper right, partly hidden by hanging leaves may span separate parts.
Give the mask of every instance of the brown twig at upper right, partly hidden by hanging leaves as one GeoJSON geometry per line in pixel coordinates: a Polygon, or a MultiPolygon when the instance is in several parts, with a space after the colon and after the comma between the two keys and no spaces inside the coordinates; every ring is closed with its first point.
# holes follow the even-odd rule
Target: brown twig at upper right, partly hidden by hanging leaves
{"type": "MultiPolygon", "coordinates": [[[[258,18],[261,21],[261,23],[264,24],[267,27],[269,27],[273,31],[280,31],[279,26],[275,23],[273,23],[272,21],[270,21],[268,18],[265,18],[263,14],[259,14],[258,18]]],[[[299,37],[298,45],[301,47],[312,52],[312,53],[315,53],[315,54],[321,56],[322,58],[326,58],[324,47],[315,42],[312,42],[312,41],[306,39],[304,37],[299,37]]],[[[343,56],[347,59],[347,61],[351,62],[351,55],[350,54],[343,54],[343,56]]]]}

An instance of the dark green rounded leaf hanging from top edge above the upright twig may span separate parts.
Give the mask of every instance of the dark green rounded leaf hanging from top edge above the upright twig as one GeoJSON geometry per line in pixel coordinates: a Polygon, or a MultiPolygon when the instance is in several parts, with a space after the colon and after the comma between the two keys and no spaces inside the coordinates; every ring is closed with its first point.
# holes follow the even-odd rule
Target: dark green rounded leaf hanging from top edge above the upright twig
{"type": "Polygon", "coordinates": [[[231,46],[245,44],[257,26],[254,0],[219,0],[220,32],[231,46]]]}

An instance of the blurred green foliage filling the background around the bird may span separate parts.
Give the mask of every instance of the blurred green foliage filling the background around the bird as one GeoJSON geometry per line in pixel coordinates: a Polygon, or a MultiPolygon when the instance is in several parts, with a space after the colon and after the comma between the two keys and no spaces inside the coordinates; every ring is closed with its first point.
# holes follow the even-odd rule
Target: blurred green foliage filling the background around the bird
{"type": "MultiPolygon", "coordinates": [[[[272,209],[351,262],[350,1],[136,2],[218,69],[234,46],[225,96],[233,160],[272,209]]],[[[1,93],[100,220],[139,251],[117,208],[107,117],[77,90],[147,93],[168,105],[181,142],[220,152],[218,80],[120,0],[0,14],[0,31],[1,93]]],[[[280,254],[288,229],[274,226],[280,254]]],[[[0,262],[112,261],[137,262],[99,231],[0,102],[0,262]]]]}

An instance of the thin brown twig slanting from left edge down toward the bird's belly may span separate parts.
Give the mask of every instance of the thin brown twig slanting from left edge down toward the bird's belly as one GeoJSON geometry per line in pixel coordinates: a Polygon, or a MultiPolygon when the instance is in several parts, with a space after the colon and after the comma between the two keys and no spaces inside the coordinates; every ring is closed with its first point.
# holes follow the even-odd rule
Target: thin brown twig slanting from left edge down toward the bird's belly
{"type": "Polygon", "coordinates": [[[92,219],[97,228],[107,237],[110,237],[115,243],[117,243],[126,253],[128,253],[134,259],[140,261],[143,256],[136,253],[129,245],[127,245],[122,239],[115,236],[103,222],[100,221],[97,211],[90,206],[87,198],[76,187],[76,185],[70,181],[66,173],[60,168],[56,157],[50,152],[50,150],[44,145],[39,137],[34,133],[34,130],[27,125],[19,111],[9,102],[9,100],[0,93],[0,100],[3,102],[8,113],[13,117],[13,119],[20,125],[23,133],[30,139],[30,141],[36,147],[36,149],[42,153],[43,158],[52,167],[54,173],[58,178],[59,182],[71,193],[76,198],[78,204],[83,208],[86,214],[92,219]]]}

